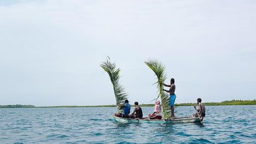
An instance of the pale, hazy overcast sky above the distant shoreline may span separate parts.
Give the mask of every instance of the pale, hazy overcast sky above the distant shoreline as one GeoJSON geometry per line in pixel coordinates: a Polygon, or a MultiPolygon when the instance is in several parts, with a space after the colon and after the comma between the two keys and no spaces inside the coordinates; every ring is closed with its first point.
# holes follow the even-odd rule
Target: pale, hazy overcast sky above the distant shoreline
{"type": "Polygon", "coordinates": [[[115,104],[106,56],[130,103],[156,98],[149,59],[175,103],[254,100],[255,14],[252,0],[0,0],[0,105],[115,104]]]}

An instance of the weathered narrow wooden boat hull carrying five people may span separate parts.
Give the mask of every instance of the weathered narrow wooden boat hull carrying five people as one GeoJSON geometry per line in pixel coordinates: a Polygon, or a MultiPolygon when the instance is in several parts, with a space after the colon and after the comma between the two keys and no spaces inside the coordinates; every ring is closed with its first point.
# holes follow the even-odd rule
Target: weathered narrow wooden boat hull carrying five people
{"type": "Polygon", "coordinates": [[[114,116],[114,120],[118,123],[201,123],[198,117],[183,117],[171,120],[146,120],[146,119],[128,119],[114,116]]]}

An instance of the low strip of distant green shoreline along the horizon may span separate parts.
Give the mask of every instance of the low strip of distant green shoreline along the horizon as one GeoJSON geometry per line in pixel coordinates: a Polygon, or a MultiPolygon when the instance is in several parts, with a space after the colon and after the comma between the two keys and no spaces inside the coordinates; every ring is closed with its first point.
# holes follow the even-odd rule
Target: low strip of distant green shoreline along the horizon
{"type": "MultiPolygon", "coordinates": [[[[191,106],[197,105],[196,103],[181,103],[175,104],[175,106],[191,106]]],[[[256,105],[256,100],[231,100],[222,101],[220,103],[204,103],[204,105],[256,105]]],[[[134,105],[132,105],[134,106],[134,105]]],[[[154,104],[140,104],[140,107],[153,107],[154,104]]],[[[0,105],[0,108],[69,108],[69,107],[116,107],[116,105],[60,105],[60,106],[46,106],[37,107],[34,105],[0,105]]]]}

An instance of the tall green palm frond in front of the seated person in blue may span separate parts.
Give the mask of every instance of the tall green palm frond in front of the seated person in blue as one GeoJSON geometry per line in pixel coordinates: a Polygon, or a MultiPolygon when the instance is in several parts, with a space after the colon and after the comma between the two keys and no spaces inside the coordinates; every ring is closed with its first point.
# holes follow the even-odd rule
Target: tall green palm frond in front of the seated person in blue
{"type": "Polygon", "coordinates": [[[127,92],[120,84],[120,68],[116,69],[116,63],[110,62],[110,57],[100,64],[101,68],[110,76],[110,81],[113,84],[114,95],[116,96],[117,113],[123,113],[123,104],[127,99],[127,92]]]}

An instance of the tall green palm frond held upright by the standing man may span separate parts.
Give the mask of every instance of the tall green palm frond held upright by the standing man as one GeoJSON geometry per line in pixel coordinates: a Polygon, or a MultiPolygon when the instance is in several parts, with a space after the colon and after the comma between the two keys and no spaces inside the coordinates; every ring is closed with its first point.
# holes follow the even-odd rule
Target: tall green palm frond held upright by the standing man
{"type": "Polygon", "coordinates": [[[158,81],[155,84],[158,84],[158,97],[156,100],[160,97],[162,102],[162,108],[163,108],[163,115],[164,119],[171,119],[171,107],[169,106],[169,94],[165,92],[164,89],[164,81],[167,79],[167,75],[164,72],[165,66],[158,62],[158,60],[149,60],[148,62],[145,62],[146,65],[152,69],[153,72],[155,72],[155,75],[157,76],[158,81]]]}

